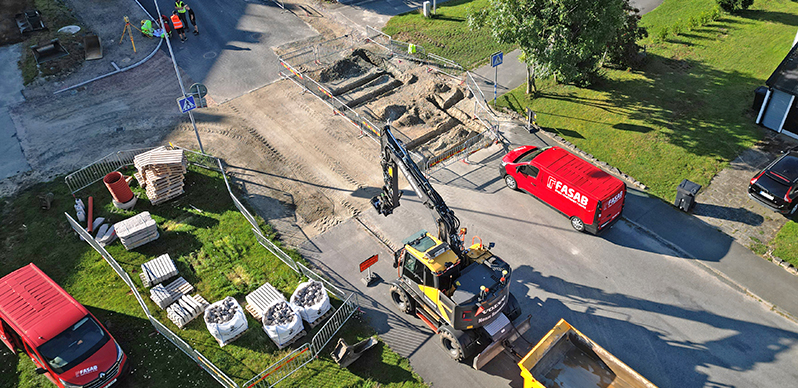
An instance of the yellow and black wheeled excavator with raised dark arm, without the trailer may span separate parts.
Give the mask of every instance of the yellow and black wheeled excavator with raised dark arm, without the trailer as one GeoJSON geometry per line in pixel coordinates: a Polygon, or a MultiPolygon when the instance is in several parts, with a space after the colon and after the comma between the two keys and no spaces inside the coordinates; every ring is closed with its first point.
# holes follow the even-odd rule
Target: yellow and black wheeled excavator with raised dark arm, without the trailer
{"type": "Polygon", "coordinates": [[[486,346],[518,332],[512,323],[521,314],[510,294],[512,269],[491,253],[493,244],[464,246],[460,221],[389,126],[383,130],[381,149],[385,185],[371,199],[374,208],[388,216],[399,206],[401,171],[424,205],[437,213],[438,224],[437,236],[421,230],[394,253],[398,278],[391,282],[391,299],[400,311],[417,316],[437,333],[451,358],[462,361],[476,355],[473,366],[479,368],[487,362],[486,346]]]}

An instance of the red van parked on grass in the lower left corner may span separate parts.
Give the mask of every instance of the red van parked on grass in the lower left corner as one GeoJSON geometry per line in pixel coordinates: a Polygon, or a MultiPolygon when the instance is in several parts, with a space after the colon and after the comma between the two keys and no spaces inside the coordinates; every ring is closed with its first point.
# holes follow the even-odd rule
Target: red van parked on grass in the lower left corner
{"type": "Polygon", "coordinates": [[[83,305],[33,263],[0,279],[0,340],[61,388],[104,388],[127,356],[83,305]]]}

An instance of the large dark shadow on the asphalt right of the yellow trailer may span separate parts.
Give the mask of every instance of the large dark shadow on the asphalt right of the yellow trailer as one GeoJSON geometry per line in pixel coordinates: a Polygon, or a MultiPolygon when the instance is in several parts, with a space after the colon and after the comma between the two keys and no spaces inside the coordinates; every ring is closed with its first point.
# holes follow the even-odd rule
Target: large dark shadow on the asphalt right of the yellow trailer
{"type": "MultiPolygon", "coordinates": [[[[564,318],[632,369],[660,387],[722,387],[702,371],[722,368],[748,371],[776,360],[798,343],[798,334],[778,328],[721,316],[703,309],[692,309],[546,276],[530,266],[513,273],[512,291],[524,313],[532,314],[532,329],[527,338],[536,342],[564,318]],[[523,280],[521,280],[523,279],[523,280]],[[559,295],[545,301],[535,289],[559,295]],[[633,323],[623,310],[690,321],[703,329],[706,341],[684,338],[678,331],[663,331],[633,323]],[[675,385],[674,385],[675,384],[675,385]]],[[[678,292],[678,290],[674,290],[678,292]]],[[[659,327],[666,327],[659,325],[659,327]]],[[[691,337],[696,338],[697,335],[691,337]]]]}

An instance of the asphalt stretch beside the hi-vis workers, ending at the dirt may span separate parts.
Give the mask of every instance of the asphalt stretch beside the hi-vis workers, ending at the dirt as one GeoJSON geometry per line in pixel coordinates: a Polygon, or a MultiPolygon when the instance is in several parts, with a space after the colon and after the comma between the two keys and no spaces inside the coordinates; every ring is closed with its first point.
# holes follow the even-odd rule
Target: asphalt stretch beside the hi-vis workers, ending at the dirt
{"type": "MultiPolygon", "coordinates": [[[[143,0],[142,4],[151,15],[157,15],[152,1],[143,0]]],[[[194,82],[204,83],[219,103],[279,78],[272,47],[317,35],[293,13],[284,12],[271,1],[189,0],[186,4],[196,14],[200,34],[192,34],[190,26],[188,41],[181,42],[173,33],[177,64],[194,82]]],[[[158,6],[167,16],[175,9],[171,0],[159,0],[158,6]]]]}

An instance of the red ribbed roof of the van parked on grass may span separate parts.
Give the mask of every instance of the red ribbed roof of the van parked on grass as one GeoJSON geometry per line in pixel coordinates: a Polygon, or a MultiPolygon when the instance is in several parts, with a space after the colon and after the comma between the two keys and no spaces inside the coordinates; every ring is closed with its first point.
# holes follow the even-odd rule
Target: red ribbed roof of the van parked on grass
{"type": "Polygon", "coordinates": [[[33,263],[0,279],[0,314],[31,346],[47,342],[88,313],[33,263]]]}

